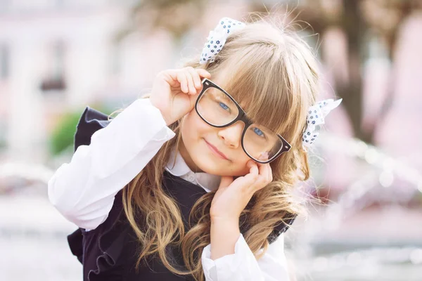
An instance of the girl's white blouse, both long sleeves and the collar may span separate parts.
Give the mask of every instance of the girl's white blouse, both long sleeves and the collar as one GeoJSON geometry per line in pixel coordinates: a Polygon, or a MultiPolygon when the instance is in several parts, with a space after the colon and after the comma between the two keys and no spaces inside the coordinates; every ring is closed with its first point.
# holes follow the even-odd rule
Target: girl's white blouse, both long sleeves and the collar
{"type": "MultiPolygon", "coordinates": [[[[108,126],[96,131],[90,145],[80,145],[70,163],[57,169],[48,184],[49,200],[79,228],[95,229],[106,221],[117,192],[174,136],[149,99],[135,100],[108,126]]],[[[194,173],[179,153],[172,154],[166,169],[207,192],[219,186],[219,176],[194,173]]],[[[208,244],[201,256],[206,281],[289,280],[283,234],[269,245],[259,261],[242,234],[234,254],[212,260],[210,248],[208,244]]]]}

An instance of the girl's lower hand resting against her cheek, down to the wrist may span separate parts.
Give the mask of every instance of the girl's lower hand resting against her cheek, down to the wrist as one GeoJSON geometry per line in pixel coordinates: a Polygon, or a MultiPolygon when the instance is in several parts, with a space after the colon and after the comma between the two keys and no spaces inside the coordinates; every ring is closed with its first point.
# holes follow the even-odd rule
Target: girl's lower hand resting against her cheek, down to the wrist
{"type": "Polygon", "coordinates": [[[248,161],[249,174],[236,178],[222,176],[219,188],[211,202],[211,221],[238,221],[252,195],[272,181],[269,163],[248,161]]]}

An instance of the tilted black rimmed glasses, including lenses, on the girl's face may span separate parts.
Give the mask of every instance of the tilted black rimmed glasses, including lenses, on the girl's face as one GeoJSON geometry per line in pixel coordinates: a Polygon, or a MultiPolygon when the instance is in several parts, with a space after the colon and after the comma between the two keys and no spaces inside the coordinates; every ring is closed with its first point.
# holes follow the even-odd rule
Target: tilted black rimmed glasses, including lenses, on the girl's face
{"type": "Polygon", "coordinates": [[[245,126],[242,132],[242,148],[251,159],[269,163],[281,153],[290,150],[291,145],[278,133],[261,124],[253,123],[246,112],[229,93],[209,79],[203,79],[203,89],[196,100],[195,110],[211,126],[224,128],[241,120],[245,126]]]}

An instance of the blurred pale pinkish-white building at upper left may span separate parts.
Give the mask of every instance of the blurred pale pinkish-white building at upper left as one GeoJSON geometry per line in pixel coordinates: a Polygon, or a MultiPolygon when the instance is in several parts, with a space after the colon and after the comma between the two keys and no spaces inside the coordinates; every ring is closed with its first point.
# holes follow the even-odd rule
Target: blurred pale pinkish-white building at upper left
{"type": "Polygon", "coordinates": [[[117,41],[129,20],[121,2],[0,1],[0,160],[42,162],[63,112],[151,87],[170,37],[117,41]]]}

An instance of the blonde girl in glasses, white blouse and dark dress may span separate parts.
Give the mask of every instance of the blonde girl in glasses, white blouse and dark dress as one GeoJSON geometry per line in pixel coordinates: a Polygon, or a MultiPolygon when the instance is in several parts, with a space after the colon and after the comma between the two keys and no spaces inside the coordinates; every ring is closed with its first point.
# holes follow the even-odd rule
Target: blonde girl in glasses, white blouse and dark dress
{"type": "Polygon", "coordinates": [[[203,53],[160,72],[149,98],[109,119],[87,107],[49,199],[84,280],[288,280],[283,232],[309,177],[309,47],[266,20],[222,18],[203,53]]]}

